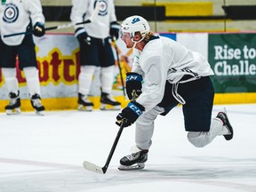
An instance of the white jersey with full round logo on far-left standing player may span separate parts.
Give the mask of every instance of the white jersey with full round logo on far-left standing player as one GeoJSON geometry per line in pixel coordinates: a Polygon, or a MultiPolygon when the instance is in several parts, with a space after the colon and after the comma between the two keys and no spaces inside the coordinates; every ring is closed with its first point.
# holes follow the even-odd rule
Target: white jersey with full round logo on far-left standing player
{"type": "Polygon", "coordinates": [[[4,44],[19,45],[24,35],[5,37],[13,33],[25,32],[30,19],[33,26],[36,22],[44,23],[40,0],[6,0],[0,4],[0,31],[4,44]]]}

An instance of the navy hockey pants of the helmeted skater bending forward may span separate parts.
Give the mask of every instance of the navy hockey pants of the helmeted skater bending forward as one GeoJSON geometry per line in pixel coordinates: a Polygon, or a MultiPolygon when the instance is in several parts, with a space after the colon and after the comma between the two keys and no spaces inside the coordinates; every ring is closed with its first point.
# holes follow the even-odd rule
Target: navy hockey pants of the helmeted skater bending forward
{"type": "MultiPolygon", "coordinates": [[[[166,82],[164,98],[157,105],[165,109],[166,115],[179,102],[172,95],[172,86],[166,82]]],[[[179,84],[178,93],[186,101],[183,105],[185,130],[188,132],[208,132],[212,119],[214,88],[209,76],[185,84],[179,84]]]]}

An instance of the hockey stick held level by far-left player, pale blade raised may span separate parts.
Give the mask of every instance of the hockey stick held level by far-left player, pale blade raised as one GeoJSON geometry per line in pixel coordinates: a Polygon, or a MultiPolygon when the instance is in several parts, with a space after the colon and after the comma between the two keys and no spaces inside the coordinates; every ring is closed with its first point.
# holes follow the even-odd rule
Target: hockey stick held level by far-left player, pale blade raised
{"type": "MultiPolygon", "coordinates": [[[[74,27],[76,25],[91,23],[95,19],[95,16],[99,12],[99,10],[100,10],[100,4],[97,3],[96,6],[95,6],[95,9],[92,12],[91,17],[88,20],[84,20],[83,22],[78,22],[76,24],[67,23],[67,24],[63,24],[63,25],[59,25],[59,26],[53,26],[53,27],[50,27],[50,28],[44,28],[44,30],[48,31],[48,30],[54,30],[54,29],[71,28],[71,27],[74,27]]],[[[30,34],[33,34],[33,30],[26,31],[26,32],[20,32],[20,33],[9,34],[9,35],[4,35],[4,38],[9,37],[9,36],[20,36],[20,35],[30,35],[30,34]]]]}

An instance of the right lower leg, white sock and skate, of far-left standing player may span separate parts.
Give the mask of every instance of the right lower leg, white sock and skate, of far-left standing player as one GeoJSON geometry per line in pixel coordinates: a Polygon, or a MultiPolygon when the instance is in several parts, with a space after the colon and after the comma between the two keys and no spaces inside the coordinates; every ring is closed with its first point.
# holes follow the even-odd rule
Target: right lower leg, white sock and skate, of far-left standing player
{"type": "Polygon", "coordinates": [[[37,115],[43,116],[45,108],[42,105],[40,97],[38,69],[36,67],[23,68],[23,72],[27,81],[31,105],[33,108],[35,108],[37,115]]]}

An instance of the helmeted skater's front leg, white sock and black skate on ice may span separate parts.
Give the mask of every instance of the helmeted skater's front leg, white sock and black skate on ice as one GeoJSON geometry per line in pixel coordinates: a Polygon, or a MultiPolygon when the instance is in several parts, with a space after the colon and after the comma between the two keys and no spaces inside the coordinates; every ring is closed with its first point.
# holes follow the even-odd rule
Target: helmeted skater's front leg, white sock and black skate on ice
{"type": "Polygon", "coordinates": [[[145,114],[142,114],[136,122],[135,143],[131,148],[132,154],[120,159],[119,170],[138,170],[145,167],[148,160],[148,149],[152,144],[154,121],[156,116],[164,113],[164,108],[156,106],[145,114]]]}

